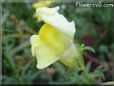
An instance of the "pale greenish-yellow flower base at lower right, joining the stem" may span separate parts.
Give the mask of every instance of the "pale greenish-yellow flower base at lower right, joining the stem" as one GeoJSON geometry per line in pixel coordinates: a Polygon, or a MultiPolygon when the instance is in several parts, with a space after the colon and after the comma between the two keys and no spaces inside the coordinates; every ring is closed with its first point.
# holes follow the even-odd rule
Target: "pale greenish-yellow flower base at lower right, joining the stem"
{"type": "Polygon", "coordinates": [[[73,43],[61,56],[59,61],[68,67],[75,67],[78,70],[84,69],[83,57],[80,50],[78,50],[73,43]]]}

